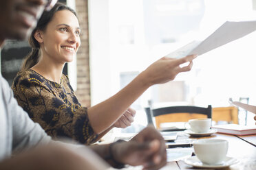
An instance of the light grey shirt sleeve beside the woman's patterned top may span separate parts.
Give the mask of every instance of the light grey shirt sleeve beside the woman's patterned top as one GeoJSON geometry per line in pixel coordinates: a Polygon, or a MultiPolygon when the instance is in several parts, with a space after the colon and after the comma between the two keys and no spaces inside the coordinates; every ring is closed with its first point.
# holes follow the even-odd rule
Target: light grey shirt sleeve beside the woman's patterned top
{"type": "Polygon", "coordinates": [[[17,104],[8,82],[0,76],[3,104],[6,107],[8,128],[11,130],[8,143],[12,143],[12,151],[21,151],[40,143],[49,143],[50,136],[38,123],[34,123],[28,114],[17,104]]]}

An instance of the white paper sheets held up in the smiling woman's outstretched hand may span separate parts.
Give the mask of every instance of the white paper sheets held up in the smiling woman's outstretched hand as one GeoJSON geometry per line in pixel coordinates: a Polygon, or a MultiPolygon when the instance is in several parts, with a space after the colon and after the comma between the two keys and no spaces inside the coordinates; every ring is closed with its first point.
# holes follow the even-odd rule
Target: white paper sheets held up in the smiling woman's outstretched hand
{"type": "Polygon", "coordinates": [[[167,54],[169,58],[182,58],[191,54],[198,56],[228,42],[242,38],[256,30],[256,21],[226,21],[213,34],[202,41],[194,40],[180,49],[167,54]]]}

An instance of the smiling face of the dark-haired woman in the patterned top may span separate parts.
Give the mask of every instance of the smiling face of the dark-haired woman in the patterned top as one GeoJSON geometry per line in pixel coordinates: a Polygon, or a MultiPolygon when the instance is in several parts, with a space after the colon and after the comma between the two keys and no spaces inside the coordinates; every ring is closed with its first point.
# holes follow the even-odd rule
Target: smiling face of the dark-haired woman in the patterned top
{"type": "Polygon", "coordinates": [[[41,33],[41,50],[44,57],[56,63],[71,62],[81,44],[78,19],[69,10],[54,14],[45,32],[41,33]]]}

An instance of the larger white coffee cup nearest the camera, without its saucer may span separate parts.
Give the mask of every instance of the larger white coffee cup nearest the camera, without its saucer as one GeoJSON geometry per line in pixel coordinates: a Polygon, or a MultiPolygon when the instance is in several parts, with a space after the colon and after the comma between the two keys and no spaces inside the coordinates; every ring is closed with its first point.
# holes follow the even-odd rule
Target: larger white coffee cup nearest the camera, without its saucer
{"type": "Polygon", "coordinates": [[[200,139],[193,142],[195,155],[207,165],[220,165],[226,158],[228,141],[223,139],[200,139]]]}

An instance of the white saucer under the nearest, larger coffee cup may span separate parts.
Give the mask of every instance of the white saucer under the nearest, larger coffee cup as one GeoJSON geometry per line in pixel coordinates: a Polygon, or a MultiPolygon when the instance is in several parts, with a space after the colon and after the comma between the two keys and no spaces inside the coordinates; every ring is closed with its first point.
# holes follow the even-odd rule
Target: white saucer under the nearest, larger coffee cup
{"type": "Polygon", "coordinates": [[[219,169],[219,168],[229,167],[229,166],[237,163],[237,159],[226,156],[225,160],[223,161],[223,163],[221,165],[207,165],[207,164],[202,163],[198,159],[197,156],[192,156],[191,158],[186,158],[186,160],[184,160],[184,162],[187,165],[192,165],[193,167],[219,169]]]}

